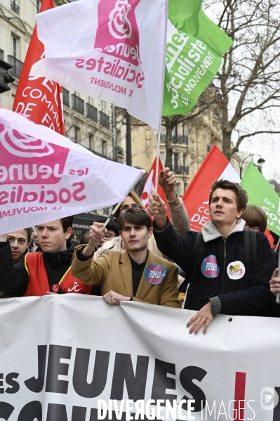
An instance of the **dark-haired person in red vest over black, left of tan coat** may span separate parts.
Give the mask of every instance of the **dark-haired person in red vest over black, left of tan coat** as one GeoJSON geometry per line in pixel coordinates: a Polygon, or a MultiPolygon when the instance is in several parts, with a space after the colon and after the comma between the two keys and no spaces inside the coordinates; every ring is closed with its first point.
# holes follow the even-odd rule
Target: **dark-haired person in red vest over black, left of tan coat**
{"type": "MultiPolygon", "coordinates": [[[[91,294],[91,287],[71,275],[74,246],[68,240],[73,216],[36,226],[42,252],[27,253],[13,265],[7,235],[0,235],[0,292],[42,296],[48,292],[91,294]]],[[[10,295],[11,297],[11,295],[10,295]]]]}

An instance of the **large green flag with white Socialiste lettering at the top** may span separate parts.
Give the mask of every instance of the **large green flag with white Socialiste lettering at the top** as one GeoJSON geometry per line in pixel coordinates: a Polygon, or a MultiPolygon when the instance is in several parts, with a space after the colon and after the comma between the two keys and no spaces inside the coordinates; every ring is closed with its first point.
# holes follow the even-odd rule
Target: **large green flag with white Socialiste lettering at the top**
{"type": "Polygon", "coordinates": [[[201,10],[202,0],[168,7],[162,115],[187,114],[218,72],[232,40],[201,10]]]}

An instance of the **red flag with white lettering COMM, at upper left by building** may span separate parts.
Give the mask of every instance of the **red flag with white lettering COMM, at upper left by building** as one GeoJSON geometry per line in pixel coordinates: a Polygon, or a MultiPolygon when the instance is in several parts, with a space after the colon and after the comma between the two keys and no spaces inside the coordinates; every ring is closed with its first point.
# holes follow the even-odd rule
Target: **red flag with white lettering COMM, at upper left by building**
{"type": "MultiPolygon", "coordinates": [[[[53,0],[43,0],[40,12],[53,7],[53,0]]],[[[64,134],[62,87],[46,77],[29,76],[32,65],[43,56],[44,44],[39,41],[35,26],[15,94],[13,111],[29,117],[36,124],[43,124],[64,134]]]]}

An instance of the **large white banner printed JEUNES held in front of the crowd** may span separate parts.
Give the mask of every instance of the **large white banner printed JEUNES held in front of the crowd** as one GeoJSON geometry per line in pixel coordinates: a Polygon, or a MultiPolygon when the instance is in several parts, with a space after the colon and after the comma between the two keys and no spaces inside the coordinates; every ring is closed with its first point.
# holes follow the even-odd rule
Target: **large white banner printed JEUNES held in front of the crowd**
{"type": "Polygon", "coordinates": [[[218,315],[189,335],[193,313],[78,294],[2,299],[0,419],[126,420],[130,406],[131,419],[279,420],[280,320],[218,315]]]}

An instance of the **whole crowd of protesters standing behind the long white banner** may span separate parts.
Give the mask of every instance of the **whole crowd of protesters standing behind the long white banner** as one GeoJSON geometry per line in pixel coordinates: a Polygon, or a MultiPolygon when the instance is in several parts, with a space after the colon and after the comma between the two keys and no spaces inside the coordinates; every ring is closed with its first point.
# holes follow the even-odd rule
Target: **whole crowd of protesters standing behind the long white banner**
{"type": "Polygon", "coordinates": [[[197,233],[175,183],[168,168],[160,172],[169,209],[153,191],[146,212],[131,191],[114,220],[94,222],[80,243],[73,216],[0,235],[0,297],[78,293],[182,307],[196,311],[189,333],[205,333],[218,313],[280,317],[279,252],[264,234],[265,212],[247,205],[240,186],[215,181],[210,221],[197,233]]]}

